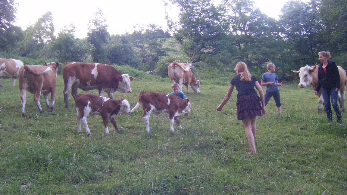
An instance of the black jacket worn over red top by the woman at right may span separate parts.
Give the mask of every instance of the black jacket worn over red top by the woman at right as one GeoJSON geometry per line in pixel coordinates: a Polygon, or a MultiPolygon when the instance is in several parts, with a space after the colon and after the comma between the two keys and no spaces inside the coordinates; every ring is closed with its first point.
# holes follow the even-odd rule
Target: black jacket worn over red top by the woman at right
{"type": "Polygon", "coordinates": [[[318,82],[315,91],[321,87],[330,90],[331,88],[340,88],[340,73],[335,62],[328,60],[327,73],[324,73],[323,63],[318,66],[318,82]]]}

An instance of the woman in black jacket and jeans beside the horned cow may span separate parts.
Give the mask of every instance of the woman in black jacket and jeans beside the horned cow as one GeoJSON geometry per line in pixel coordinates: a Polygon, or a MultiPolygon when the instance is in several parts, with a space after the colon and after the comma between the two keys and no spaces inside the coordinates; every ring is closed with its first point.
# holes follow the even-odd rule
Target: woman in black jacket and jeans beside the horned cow
{"type": "Polygon", "coordinates": [[[340,91],[340,74],[335,62],[329,60],[330,52],[321,51],[318,53],[319,61],[318,66],[318,83],[314,94],[318,94],[322,88],[322,96],[325,104],[325,112],[327,112],[328,122],[332,121],[332,112],[330,107],[330,99],[332,108],[335,110],[337,122],[341,125],[341,110],[337,104],[338,93],[340,91]]]}

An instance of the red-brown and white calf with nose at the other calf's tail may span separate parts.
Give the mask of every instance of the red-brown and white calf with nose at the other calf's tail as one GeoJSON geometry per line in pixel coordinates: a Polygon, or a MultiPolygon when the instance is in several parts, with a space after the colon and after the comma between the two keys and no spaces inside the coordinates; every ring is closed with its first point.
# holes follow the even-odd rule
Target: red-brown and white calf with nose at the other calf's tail
{"type": "Polygon", "coordinates": [[[108,120],[111,120],[112,125],[117,132],[117,122],[115,116],[117,114],[130,114],[129,102],[123,98],[120,100],[112,100],[94,94],[78,94],[75,98],[76,111],[77,111],[77,128],[78,133],[81,133],[81,121],[86,129],[88,136],[91,136],[90,129],[87,124],[87,117],[93,115],[100,115],[105,125],[105,133],[109,135],[108,120]]]}

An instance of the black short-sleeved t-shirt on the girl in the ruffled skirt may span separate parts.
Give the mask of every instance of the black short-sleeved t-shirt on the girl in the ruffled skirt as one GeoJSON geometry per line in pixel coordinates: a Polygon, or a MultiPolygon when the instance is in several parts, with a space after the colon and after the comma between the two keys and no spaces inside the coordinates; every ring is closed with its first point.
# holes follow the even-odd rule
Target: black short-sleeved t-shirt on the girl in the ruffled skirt
{"type": "Polygon", "coordinates": [[[241,81],[241,75],[237,75],[236,77],[231,79],[230,84],[234,85],[237,90],[237,98],[244,96],[244,95],[253,95],[256,94],[257,92],[255,91],[255,82],[257,79],[254,76],[251,76],[251,81],[241,81]]]}

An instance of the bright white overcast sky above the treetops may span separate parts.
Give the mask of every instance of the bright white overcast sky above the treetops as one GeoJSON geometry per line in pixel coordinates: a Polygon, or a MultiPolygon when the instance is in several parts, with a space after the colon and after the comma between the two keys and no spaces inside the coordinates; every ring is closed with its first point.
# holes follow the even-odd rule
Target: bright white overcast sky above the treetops
{"type": "MultiPolygon", "coordinates": [[[[287,0],[253,0],[255,6],[269,17],[278,19],[281,8],[287,0]]],[[[307,1],[307,0],[306,0],[307,1]]],[[[34,24],[47,11],[53,14],[54,35],[61,28],[73,24],[76,36],[86,37],[89,20],[94,18],[97,8],[100,8],[107,20],[110,34],[133,32],[136,24],[146,28],[149,24],[162,26],[166,31],[165,10],[162,0],[16,0],[16,26],[23,30],[29,24],[34,24]]],[[[215,0],[216,5],[220,0],[215,0]]],[[[178,18],[178,8],[171,8],[170,17],[178,18]]]]}

